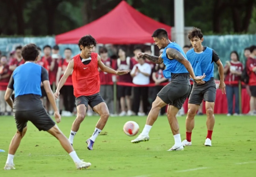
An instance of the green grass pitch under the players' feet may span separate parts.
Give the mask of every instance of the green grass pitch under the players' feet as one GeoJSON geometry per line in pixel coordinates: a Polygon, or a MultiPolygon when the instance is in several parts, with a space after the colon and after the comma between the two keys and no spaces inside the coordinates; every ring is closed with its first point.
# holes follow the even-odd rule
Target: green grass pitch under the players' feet
{"type": "MultiPolygon", "coordinates": [[[[182,140],[185,116],[178,117],[182,140]]],[[[39,132],[31,123],[14,157],[16,170],[4,171],[9,143],[16,131],[13,117],[0,117],[1,177],[233,177],[256,174],[256,117],[216,115],[212,147],[203,146],[207,129],[206,116],[197,116],[192,134],[193,146],[184,151],[167,151],[174,139],[166,116],[156,121],[150,141],[132,144],[123,125],[134,120],[142,131],[146,117],[110,117],[98,136],[94,150],[85,140],[93,133],[98,117],[86,117],[74,139],[78,156],[91,162],[87,170],[76,170],[69,155],[47,132],[39,132]]],[[[58,125],[69,136],[74,117],[62,117],[58,125]]]]}

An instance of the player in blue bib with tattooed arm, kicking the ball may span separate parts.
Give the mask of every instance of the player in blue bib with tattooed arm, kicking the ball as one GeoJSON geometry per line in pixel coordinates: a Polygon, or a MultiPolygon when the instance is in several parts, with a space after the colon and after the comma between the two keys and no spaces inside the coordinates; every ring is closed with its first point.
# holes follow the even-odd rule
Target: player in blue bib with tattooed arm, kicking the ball
{"type": "Polygon", "coordinates": [[[148,141],[148,134],[158,117],[160,109],[169,104],[167,118],[175,141],[175,144],[169,151],[183,150],[184,148],[181,143],[181,135],[176,114],[181,109],[191,89],[189,74],[194,80],[202,80],[205,76],[195,76],[193,68],[187,60],[186,54],[178,44],[173,43],[168,39],[168,34],[165,29],[157,29],[152,37],[159,49],[165,48],[163,53],[160,57],[157,57],[139,52],[138,57],[145,57],[157,64],[164,63],[166,69],[163,71],[163,76],[165,78],[172,78],[172,80],[157,94],[155,101],[152,103],[152,109],[147,116],[144,129],[141,134],[131,142],[139,143],[148,141]]]}

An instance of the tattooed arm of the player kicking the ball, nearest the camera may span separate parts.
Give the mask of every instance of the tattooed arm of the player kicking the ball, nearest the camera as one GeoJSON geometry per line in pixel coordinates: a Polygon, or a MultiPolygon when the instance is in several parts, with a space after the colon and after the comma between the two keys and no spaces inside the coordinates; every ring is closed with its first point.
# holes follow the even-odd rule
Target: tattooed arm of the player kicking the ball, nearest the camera
{"type": "Polygon", "coordinates": [[[181,54],[181,52],[177,51],[176,49],[168,48],[166,49],[166,54],[170,59],[176,59],[180,63],[182,63],[185,68],[188,70],[190,76],[194,80],[202,80],[205,78],[205,75],[203,76],[195,76],[194,70],[190,64],[190,62],[181,54]]]}

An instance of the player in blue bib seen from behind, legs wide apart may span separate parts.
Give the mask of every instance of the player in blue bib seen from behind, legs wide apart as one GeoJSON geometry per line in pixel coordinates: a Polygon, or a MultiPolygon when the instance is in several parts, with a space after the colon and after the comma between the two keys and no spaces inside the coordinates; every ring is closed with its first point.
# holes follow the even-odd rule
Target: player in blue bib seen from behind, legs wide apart
{"type": "Polygon", "coordinates": [[[61,116],[57,109],[53,92],[49,83],[48,73],[45,68],[35,64],[38,59],[39,51],[34,44],[28,44],[22,49],[22,57],[26,61],[25,64],[17,67],[8,84],[4,99],[13,108],[14,118],[16,121],[17,132],[13,136],[9,146],[8,158],[4,166],[4,170],[15,169],[13,158],[17,151],[20,141],[27,131],[27,122],[30,121],[40,131],[47,131],[55,136],[61,146],[69,153],[76,168],[88,168],[91,163],[83,162],[77,157],[76,152],[69,143],[66,136],[59,130],[58,126],[53,122],[51,117],[46,113],[40,97],[41,82],[47,93],[47,97],[54,109],[54,117],[59,123],[61,116]],[[11,95],[15,92],[15,101],[11,99],[11,95]]]}

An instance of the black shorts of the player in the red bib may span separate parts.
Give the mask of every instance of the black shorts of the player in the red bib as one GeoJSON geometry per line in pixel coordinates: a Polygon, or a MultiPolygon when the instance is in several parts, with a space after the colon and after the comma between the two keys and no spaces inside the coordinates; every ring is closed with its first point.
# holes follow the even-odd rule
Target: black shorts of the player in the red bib
{"type": "Polygon", "coordinates": [[[91,108],[97,106],[99,103],[105,102],[99,93],[90,96],[80,96],[75,98],[75,105],[79,106],[80,104],[84,104],[86,108],[88,104],[91,108]]]}

